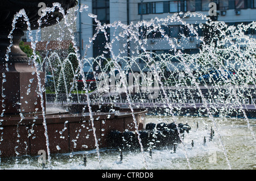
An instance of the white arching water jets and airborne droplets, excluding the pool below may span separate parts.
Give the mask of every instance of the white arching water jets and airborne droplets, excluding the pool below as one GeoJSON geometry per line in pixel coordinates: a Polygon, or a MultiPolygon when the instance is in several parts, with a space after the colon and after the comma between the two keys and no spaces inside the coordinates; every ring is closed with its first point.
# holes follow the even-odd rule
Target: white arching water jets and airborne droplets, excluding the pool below
{"type": "MultiPolygon", "coordinates": [[[[196,108],[197,102],[196,98],[198,100],[201,100],[201,104],[203,104],[203,108],[201,109],[201,112],[207,112],[206,115],[209,116],[210,121],[212,121],[212,124],[214,126],[214,129],[216,130],[218,141],[221,145],[221,150],[225,155],[226,162],[228,163],[229,169],[232,169],[232,166],[230,164],[228,153],[226,150],[226,146],[224,142],[222,141],[222,136],[220,134],[220,128],[218,127],[216,120],[214,119],[214,114],[216,112],[220,112],[220,115],[224,117],[224,120],[226,119],[226,116],[229,115],[229,110],[238,110],[236,113],[242,112],[242,115],[244,117],[243,121],[246,122],[247,128],[249,129],[249,132],[251,134],[251,137],[255,141],[255,134],[253,131],[253,128],[251,127],[250,120],[246,115],[247,103],[246,100],[250,99],[251,104],[255,108],[255,100],[253,97],[253,92],[250,92],[250,86],[255,88],[255,40],[253,37],[250,37],[249,35],[246,35],[245,32],[249,29],[254,29],[256,27],[255,22],[249,23],[249,24],[241,24],[239,26],[227,26],[224,22],[213,22],[208,21],[209,18],[207,16],[200,14],[198,12],[186,12],[184,13],[184,16],[195,16],[199,17],[203,20],[206,20],[205,24],[199,24],[198,27],[194,27],[193,24],[189,24],[185,22],[184,18],[181,18],[179,14],[174,14],[172,16],[167,16],[166,18],[155,18],[151,19],[149,21],[143,20],[138,23],[130,23],[130,25],[123,24],[119,21],[111,23],[111,24],[102,24],[100,20],[97,19],[97,15],[88,14],[90,18],[94,19],[94,21],[97,23],[96,27],[96,33],[89,39],[89,44],[87,44],[85,47],[85,54],[81,57],[79,48],[77,47],[76,39],[74,36],[74,32],[71,28],[71,22],[68,21],[67,14],[65,14],[64,10],[61,8],[59,3],[53,3],[52,8],[47,8],[44,13],[42,14],[41,18],[39,19],[39,29],[36,32],[36,39],[33,40],[31,36],[31,30],[30,30],[30,24],[28,21],[28,18],[26,16],[26,13],[23,10],[20,10],[20,12],[15,16],[13,21],[13,30],[9,34],[10,38],[10,46],[7,49],[6,53],[6,61],[9,60],[8,54],[10,53],[10,47],[12,46],[12,33],[15,28],[16,19],[18,19],[21,16],[24,16],[24,20],[28,25],[28,31],[29,31],[29,37],[32,40],[31,47],[33,49],[33,58],[32,62],[36,67],[36,75],[39,82],[39,95],[41,97],[41,106],[43,110],[43,117],[44,117],[44,128],[45,128],[45,136],[47,135],[47,124],[45,121],[45,108],[43,106],[43,92],[44,89],[40,83],[40,73],[39,70],[42,66],[39,66],[39,64],[35,61],[38,56],[36,56],[35,49],[36,49],[36,43],[38,43],[38,35],[40,32],[40,24],[41,19],[46,16],[47,12],[51,12],[55,10],[55,7],[58,7],[61,14],[64,16],[64,22],[65,22],[65,28],[68,29],[69,34],[71,35],[73,47],[75,48],[75,53],[71,53],[68,55],[75,55],[78,62],[79,67],[77,70],[72,69],[72,73],[74,75],[74,84],[75,86],[72,86],[71,90],[68,90],[67,82],[65,82],[65,72],[64,72],[64,66],[71,65],[71,62],[69,61],[69,58],[64,58],[64,61],[61,61],[59,55],[54,52],[47,54],[47,56],[44,58],[44,61],[41,62],[41,64],[49,64],[49,67],[51,69],[51,73],[54,77],[55,71],[51,64],[51,60],[53,58],[57,58],[57,61],[59,62],[59,65],[61,66],[60,74],[62,78],[64,79],[64,89],[65,94],[67,97],[67,102],[71,102],[71,92],[72,90],[76,91],[77,94],[77,100],[78,103],[80,103],[79,99],[79,93],[77,90],[76,85],[76,76],[81,75],[82,81],[84,83],[84,91],[86,96],[86,103],[89,107],[89,116],[90,121],[92,121],[92,130],[93,135],[95,139],[95,146],[96,146],[96,152],[98,157],[98,163],[101,165],[101,155],[100,155],[100,148],[98,145],[98,138],[96,136],[96,128],[94,126],[94,119],[93,119],[93,113],[92,108],[90,107],[93,103],[104,103],[105,96],[104,93],[108,94],[108,103],[122,103],[122,98],[125,99],[125,102],[127,103],[126,106],[130,108],[134,120],[134,125],[136,132],[138,134],[138,140],[139,144],[141,146],[141,153],[143,155],[143,163],[144,167],[148,168],[148,160],[145,157],[144,149],[141,144],[141,138],[140,134],[138,132],[138,125],[137,121],[134,116],[134,106],[138,107],[146,107],[147,103],[146,101],[155,101],[155,104],[153,106],[155,108],[158,108],[158,103],[161,103],[164,108],[164,113],[166,115],[171,115],[170,120],[173,120],[177,126],[177,115],[181,113],[181,110],[185,104],[188,104],[189,106],[196,108]],[[187,31],[189,33],[194,34],[195,39],[199,40],[200,42],[200,50],[199,53],[196,54],[188,54],[184,53],[182,44],[180,41],[189,41],[189,38],[191,36],[186,36],[184,33],[181,33],[180,38],[172,38],[169,37],[166,32],[163,29],[163,26],[170,25],[172,23],[181,23],[185,28],[187,28],[187,31]],[[199,33],[197,32],[199,29],[205,28],[205,26],[210,26],[214,30],[218,30],[220,33],[218,35],[218,39],[216,37],[213,37],[212,41],[210,43],[207,43],[203,37],[199,36],[199,33]],[[111,39],[109,39],[108,33],[106,31],[107,28],[112,28],[113,36],[111,39]],[[143,28],[147,31],[143,32],[143,28]],[[92,47],[92,43],[96,41],[97,35],[103,32],[105,35],[105,49],[106,52],[111,53],[111,59],[108,60],[107,58],[102,56],[98,56],[96,58],[87,57],[87,51],[92,47]],[[168,47],[167,49],[173,49],[173,53],[162,53],[157,54],[154,52],[148,52],[148,44],[150,43],[151,34],[158,32],[162,36],[163,39],[161,41],[167,42],[168,47]],[[127,39],[129,37],[129,39],[127,39]],[[114,47],[115,43],[122,42],[123,49],[119,49],[118,53],[115,53],[114,47]],[[130,44],[130,45],[129,45],[130,44]],[[130,46],[130,47],[128,47],[130,46]],[[225,47],[225,48],[224,48],[225,47]],[[131,56],[127,57],[125,54],[127,53],[127,48],[131,50],[131,56]],[[172,60],[176,60],[176,62],[172,60]],[[138,60],[141,61],[141,64],[146,65],[141,67],[141,64],[138,62],[138,60]],[[158,61],[157,61],[158,60],[158,61]],[[236,62],[234,62],[236,60],[236,62]],[[106,66],[102,66],[102,62],[106,61],[106,66]],[[111,81],[110,85],[114,83],[114,88],[109,87],[107,79],[104,79],[105,86],[104,91],[100,91],[100,86],[102,86],[102,82],[97,81],[96,82],[96,94],[94,94],[93,98],[91,94],[89,93],[89,87],[86,84],[86,77],[84,74],[84,64],[88,63],[92,68],[93,65],[96,64],[98,66],[98,70],[102,71],[102,73],[111,73],[111,81]],[[122,66],[119,65],[119,63],[122,64],[122,66]],[[209,77],[209,83],[207,83],[207,80],[203,79],[202,82],[199,82],[199,77],[202,77],[204,74],[210,74],[211,70],[209,69],[210,66],[213,66],[220,70],[221,74],[224,75],[223,77],[220,77],[218,81],[214,79],[213,77],[209,77]],[[238,66],[240,65],[240,66],[238,66]],[[151,87],[146,86],[146,91],[141,91],[137,89],[139,94],[137,95],[137,99],[134,99],[134,87],[140,87],[143,86],[143,81],[136,81],[136,85],[132,85],[132,89],[130,89],[129,81],[126,79],[126,75],[128,73],[133,74],[133,78],[135,77],[135,72],[132,70],[133,68],[138,68],[139,73],[142,74],[143,79],[150,79],[146,74],[143,74],[144,71],[149,71],[152,73],[152,77],[155,78],[154,88],[159,91],[159,96],[156,99],[143,99],[143,96],[148,96],[148,92],[152,92],[152,82],[151,87]],[[233,69],[234,75],[232,75],[232,78],[226,78],[225,76],[228,76],[226,74],[225,69],[230,68],[233,69]],[[246,69],[247,68],[247,69],[246,69]],[[130,70],[130,71],[129,71],[130,70]],[[168,70],[170,72],[170,75],[166,75],[165,71],[168,70]],[[115,75],[115,71],[118,71],[118,76],[115,75]],[[246,76],[251,75],[251,76],[246,76]],[[119,85],[117,85],[119,83],[119,85]],[[201,90],[201,84],[203,83],[203,86],[206,87],[208,95],[205,95],[204,92],[201,90]],[[106,86],[107,85],[107,86],[106,86]],[[250,86],[249,86],[250,85],[250,86]],[[237,87],[236,87],[237,86],[237,87]],[[238,87],[239,86],[239,87],[238,87]],[[121,89],[122,87],[122,89],[121,89]],[[225,92],[222,92],[222,90],[225,90],[225,92]],[[98,90],[98,91],[97,91],[98,90]],[[174,90],[174,91],[172,91],[174,90]],[[212,94],[211,90],[217,91],[218,94],[212,94]],[[110,93],[113,93],[112,91],[117,92],[117,95],[111,96],[110,93]],[[188,94],[185,94],[185,91],[188,91],[188,94]],[[195,91],[197,91],[197,95],[195,94],[195,91]],[[245,93],[249,92],[247,96],[245,93]],[[125,93],[125,96],[122,97],[122,93],[125,93]],[[189,99],[189,100],[188,100],[189,99]],[[145,100],[145,101],[144,101],[145,100]],[[188,100],[188,101],[187,101],[188,100]],[[138,104],[135,104],[138,103],[138,104]],[[244,106],[246,108],[244,108],[244,106]]],[[[87,10],[88,6],[82,5],[75,8],[75,12],[83,12],[84,10],[87,10]]],[[[76,16],[74,19],[74,22],[76,21],[76,16]]],[[[62,40],[63,35],[60,35],[59,41],[62,40]]],[[[47,52],[48,53],[48,52],[47,52]]],[[[6,70],[8,69],[8,66],[6,64],[6,70]]],[[[96,71],[93,71],[94,78],[97,78],[96,71]]],[[[4,76],[4,75],[2,75],[4,76]]],[[[98,76],[99,77],[99,76],[98,76]]],[[[106,77],[105,77],[106,78],[106,77]]],[[[57,96],[58,91],[60,91],[60,79],[54,81],[54,89],[56,94],[56,103],[57,103],[57,96]],[[56,82],[55,82],[56,81],[56,82]]],[[[150,85],[150,80],[147,81],[147,85],[150,85]]],[[[2,87],[4,86],[4,82],[2,82],[2,87]]],[[[3,94],[2,89],[2,100],[4,100],[5,95],[3,94]]],[[[4,102],[4,101],[2,101],[4,102]]],[[[4,105],[4,104],[2,104],[4,105]]],[[[200,111],[199,111],[200,115],[200,111]]],[[[20,120],[22,121],[22,119],[20,120]]],[[[18,130],[18,128],[17,128],[18,130]]],[[[178,129],[179,130],[179,129],[178,129]]],[[[182,141],[182,139],[181,139],[182,141]]],[[[189,154],[188,150],[186,148],[185,142],[181,142],[181,145],[183,146],[183,151],[185,155],[185,159],[187,160],[187,165],[189,169],[191,169],[191,163],[189,160],[189,154]]],[[[48,152],[48,162],[51,163],[51,157],[48,149],[48,138],[47,138],[47,152],[48,152]]]]}

